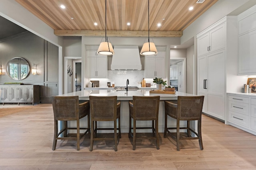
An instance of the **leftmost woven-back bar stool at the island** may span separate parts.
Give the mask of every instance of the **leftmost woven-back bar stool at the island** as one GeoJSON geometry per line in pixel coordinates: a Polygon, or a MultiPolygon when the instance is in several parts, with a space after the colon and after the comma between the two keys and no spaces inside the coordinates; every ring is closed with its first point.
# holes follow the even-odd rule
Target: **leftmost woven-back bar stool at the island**
{"type": "Polygon", "coordinates": [[[90,136],[90,104],[89,101],[79,104],[78,96],[52,96],[54,113],[54,139],[52,150],[56,149],[58,139],[75,139],[77,150],[80,149],[80,138],[86,133],[90,136]],[[87,115],[88,127],[80,127],[80,119],[87,115]],[[64,121],[64,128],[58,133],[58,121],[64,121]],[[68,121],[76,121],[76,127],[68,127],[68,121]],[[67,137],[70,129],[76,129],[76,137],[67,137]],[[80,129],[86,131],[80,135],[80,129]],[[64,137],[58,137],[64,132],[64,137]]]}

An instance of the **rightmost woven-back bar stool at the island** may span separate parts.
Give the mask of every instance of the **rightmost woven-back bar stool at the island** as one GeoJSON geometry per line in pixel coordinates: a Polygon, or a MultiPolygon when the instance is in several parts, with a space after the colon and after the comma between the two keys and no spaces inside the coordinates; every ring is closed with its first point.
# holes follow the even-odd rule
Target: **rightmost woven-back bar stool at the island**
{"type": "Polygon", "coordinates": [[[201,134],[201,120],[202,108],[204,103],[204,96],[178,96],[178,101],[172,103],[164,101],[164,138],[166,133],[172,134],[169,129],[176,129],[177,150],[180,150],[180,140],[198,139],[200,149],[203,150],[202,134],[201,134]],[[167,127],[167,117],[170,116],[176,119],[176,127],[167,127]],[[180,127],[180,120],[187,121],[186,127],[180,127]],[[198,133],[190,128],[190,121],[197,120],[198,133]],[[186,129],[188,137],[180,138],[180,129],[186,129]],[[190,132],[197,137],[191,137],[190,132]]]}

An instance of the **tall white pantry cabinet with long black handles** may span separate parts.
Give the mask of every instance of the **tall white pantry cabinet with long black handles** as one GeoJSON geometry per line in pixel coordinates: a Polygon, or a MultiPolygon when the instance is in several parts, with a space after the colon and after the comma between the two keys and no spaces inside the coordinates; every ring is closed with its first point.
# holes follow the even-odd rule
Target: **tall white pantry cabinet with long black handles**
{"type": "Polygon", "coordinates": [[[242,84],[237,30],[237,18],[226,16],[197,35],[197,94],[205,96],[203,112],[221,120],[226,120],[226,91],[242,84]]]}

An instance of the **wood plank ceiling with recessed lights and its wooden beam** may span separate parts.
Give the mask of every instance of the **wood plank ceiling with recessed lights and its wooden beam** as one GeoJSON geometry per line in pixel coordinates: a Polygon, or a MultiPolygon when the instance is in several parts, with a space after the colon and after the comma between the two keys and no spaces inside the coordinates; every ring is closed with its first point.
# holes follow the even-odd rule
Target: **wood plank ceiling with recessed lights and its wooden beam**
{"type": "MultiPolygon", "coordinates": [[[[218,0],[150,0],[150,37],[181,37],[218,0]],[[194,10],[189,11],[190,6],[194,10]],[[158,26],[158,23],[161,26],[158,26]]],[[[16,0],[58,36],[104,36],[105,0],[16,0]],[[60,8],[66,6],[65,9],[60,8]],[[98,25],[94,25],[98,23],[98,25]]],[[[148,0],[107,0],[107,35],[147,37],[148,0]],[[127,25],[127,23],[130,25],[127,25]]]]}

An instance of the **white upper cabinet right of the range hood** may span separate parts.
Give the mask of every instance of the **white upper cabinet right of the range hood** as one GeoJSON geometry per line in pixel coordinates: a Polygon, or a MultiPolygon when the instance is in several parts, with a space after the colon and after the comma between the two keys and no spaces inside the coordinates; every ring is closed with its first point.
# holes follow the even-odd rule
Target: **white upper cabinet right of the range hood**
{"type": "Polygon", "coordinates": [[[145,56],[145,78],[165,78],[165,50],[158,50],[157,55],[145,56]]]}

